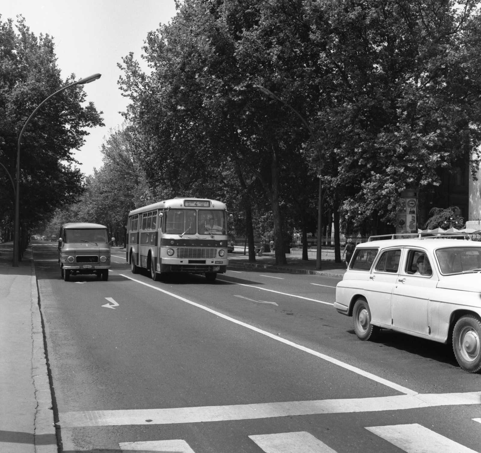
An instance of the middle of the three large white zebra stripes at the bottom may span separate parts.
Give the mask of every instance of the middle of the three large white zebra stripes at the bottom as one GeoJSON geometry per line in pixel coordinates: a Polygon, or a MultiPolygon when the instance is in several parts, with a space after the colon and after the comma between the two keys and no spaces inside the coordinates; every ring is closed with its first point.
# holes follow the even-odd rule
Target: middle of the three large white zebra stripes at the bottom
{"type": "Polygon", "coordinates": [[[249,436],[266,453],[336,453],[307,431],[249,436]]]}

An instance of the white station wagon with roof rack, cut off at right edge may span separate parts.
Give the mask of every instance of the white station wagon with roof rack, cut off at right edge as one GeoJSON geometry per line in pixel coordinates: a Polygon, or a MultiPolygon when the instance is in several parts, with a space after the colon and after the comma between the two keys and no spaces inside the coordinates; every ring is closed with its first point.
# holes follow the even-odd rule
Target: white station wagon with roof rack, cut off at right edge
{"type": "Polygon", "coordinates": [[[356,246],[334,307],[353,317],[360,340],[374,339],[380,328],[444,344],[452,339],[461,368],[480,370],[481,243],[394,237],[356,246]]]}

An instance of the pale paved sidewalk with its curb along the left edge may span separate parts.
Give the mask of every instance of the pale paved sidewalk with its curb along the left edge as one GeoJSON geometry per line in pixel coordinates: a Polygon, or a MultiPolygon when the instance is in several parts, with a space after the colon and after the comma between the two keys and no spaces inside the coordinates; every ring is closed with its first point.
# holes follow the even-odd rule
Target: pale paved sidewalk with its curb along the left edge
{"type": "Polygon", "coordinates": [[[18,268],[0,244],[0,452],[54,453],[51,390],[31,245],[18,268]]]}

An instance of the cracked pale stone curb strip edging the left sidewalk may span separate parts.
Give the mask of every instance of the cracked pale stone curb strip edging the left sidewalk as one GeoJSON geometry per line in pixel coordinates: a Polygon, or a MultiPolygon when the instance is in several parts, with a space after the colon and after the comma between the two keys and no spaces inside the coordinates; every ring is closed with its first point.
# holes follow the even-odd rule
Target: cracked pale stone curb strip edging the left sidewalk
{"type": "MultiPolygon", "coordinates": [[[[32,250],[33,253],[33,250],[32,250]]],[[[32,380],[35,388],[37,408],[34,416],[35,453],[57,453],[57,435],[53,421],[53,404],[47,359],[45,356],[44,332],[37,289],[35,263],[32,257],[32,380]]]]}

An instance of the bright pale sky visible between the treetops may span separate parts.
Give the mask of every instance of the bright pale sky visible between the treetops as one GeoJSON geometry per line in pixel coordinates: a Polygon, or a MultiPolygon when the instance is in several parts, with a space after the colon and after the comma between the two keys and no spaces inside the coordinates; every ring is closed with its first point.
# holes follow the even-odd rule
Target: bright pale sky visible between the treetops
{"type": "Polygon", "coordinates": [[[99,80],[84,85],[87,102],[92,101],[105,127],[88,129],[84,146],[74,150],[75,159],[86,175],[102,165],[100,152],[110,128],[122,124],[119,113],[128,100],[117,85],[121,75],[117,63],[129,52],[141,62],[142,45],[149,31],[170,22],[176,14],[174,0],[0,0],[1,21],[25,17],[30,31],[37,37],[49,34],[55,43],[57,65],[65,79],[75,73],[77,80],[101,73],[99,80]]]}

